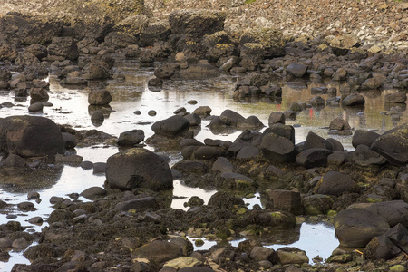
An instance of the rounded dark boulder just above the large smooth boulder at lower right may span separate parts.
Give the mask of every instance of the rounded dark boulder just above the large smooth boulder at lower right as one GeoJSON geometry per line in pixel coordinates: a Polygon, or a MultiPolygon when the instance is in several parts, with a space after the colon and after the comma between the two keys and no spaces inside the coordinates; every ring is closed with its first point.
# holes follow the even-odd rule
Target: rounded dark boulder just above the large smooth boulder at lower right
{"type": "Polygon", "coordinates": [[[345,191],[353,189],[354,186],[355,181],[349,176],[337,171],[329,171],[323,176],[322,180],[320,180],[317,193],[340,196],[345,191]]]}

